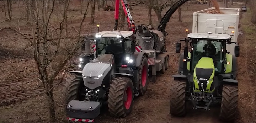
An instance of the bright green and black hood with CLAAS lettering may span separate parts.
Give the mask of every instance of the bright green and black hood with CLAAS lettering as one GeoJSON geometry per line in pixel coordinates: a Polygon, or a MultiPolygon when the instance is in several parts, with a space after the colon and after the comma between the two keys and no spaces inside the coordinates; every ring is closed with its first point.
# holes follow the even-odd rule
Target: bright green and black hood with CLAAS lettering
{"type": "Polygon", "coordinates": [[[195,69],[194,69],[194,83],[195,91],[200,91],[202,89],[201,83],[203,83],[204,91],[210,91],[211,84],[213,82],[214,71],[213,59],[208,57],[202,57],[195,69]],[[208,83],[208,84],[207,84],[208,83]]]}

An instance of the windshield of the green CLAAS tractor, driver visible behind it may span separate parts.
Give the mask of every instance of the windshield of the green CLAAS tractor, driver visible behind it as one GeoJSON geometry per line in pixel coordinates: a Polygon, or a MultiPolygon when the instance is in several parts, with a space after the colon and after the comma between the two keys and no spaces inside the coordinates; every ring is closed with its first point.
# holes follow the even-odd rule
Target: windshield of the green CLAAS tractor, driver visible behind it
{"type": "Polygon", "coordinates": [[[222,63],[222,43],[211,40],[199,40],[193,43],[193,60],[192,69],[194,70],[196,64],[202,57],[213,58],[215,71],[221,72],[222,63]]]}

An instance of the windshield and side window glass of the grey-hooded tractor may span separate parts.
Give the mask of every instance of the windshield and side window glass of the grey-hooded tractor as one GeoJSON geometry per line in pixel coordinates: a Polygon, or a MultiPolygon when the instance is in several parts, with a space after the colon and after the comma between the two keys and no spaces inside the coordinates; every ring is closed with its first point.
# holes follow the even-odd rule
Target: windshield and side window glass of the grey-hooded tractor
{"type": "Polygon", "coordinates": [[[124,41],[124,50],[122,46],[122,41],[120,38],[117,37],[102,37],[97,39],[98,42],[98,56],[105,54],[105,53],[114,53],[114,54],[121,54],[121,53],[130,53],[132,40],[126,38],[124,41]]]}

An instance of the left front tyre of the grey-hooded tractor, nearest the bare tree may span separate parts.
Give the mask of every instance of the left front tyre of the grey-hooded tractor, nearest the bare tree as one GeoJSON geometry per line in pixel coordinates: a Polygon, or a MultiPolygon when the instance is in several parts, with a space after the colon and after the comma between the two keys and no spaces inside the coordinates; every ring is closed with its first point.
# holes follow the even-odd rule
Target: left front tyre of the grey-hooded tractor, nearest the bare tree
{"type": "Polygon", "coordinates": [[[85,100],[86,94],[82,76],[68,77],[63,89],[66,105],[72,100],[85,100]]]}

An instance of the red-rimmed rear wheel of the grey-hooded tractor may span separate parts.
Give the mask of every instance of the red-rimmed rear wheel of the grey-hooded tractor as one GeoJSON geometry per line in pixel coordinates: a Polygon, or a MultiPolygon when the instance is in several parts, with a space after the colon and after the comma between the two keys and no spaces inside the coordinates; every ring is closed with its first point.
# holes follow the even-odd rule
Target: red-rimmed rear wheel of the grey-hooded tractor
{"type": "Polygon", "coordinates": [[[142,57],[142,61],[139,67],[139,94],[142,96],[145,94],[148,86],[148,59],[145,55],[142,57]]]}

